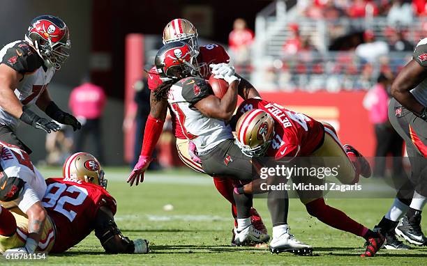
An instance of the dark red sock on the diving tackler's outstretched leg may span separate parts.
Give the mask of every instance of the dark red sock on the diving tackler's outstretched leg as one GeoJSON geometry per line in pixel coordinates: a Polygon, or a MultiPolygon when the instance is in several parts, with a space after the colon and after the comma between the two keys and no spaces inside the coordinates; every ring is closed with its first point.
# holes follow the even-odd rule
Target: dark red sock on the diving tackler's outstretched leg
{"type": "Polygon", "coordinates": [[[324,203],[323,198],[317,198],[306,204],[307,212],[322,221],[324,224],[332,226],[336,229],[343,230],[359,237],[364,237],[366,234],[366,227],[359,224],[347,216],[344,212],[332,208],[324,203]]]}

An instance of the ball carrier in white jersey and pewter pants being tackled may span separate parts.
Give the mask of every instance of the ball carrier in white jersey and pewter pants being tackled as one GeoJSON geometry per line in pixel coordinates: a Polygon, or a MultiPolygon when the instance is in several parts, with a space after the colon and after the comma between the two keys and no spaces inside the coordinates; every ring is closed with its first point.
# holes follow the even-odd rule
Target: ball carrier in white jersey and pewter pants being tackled
{"type": "MultiPolygon", "coordinates": [[[[239,77],[234,75],[232,68],[220,75],[213,70],[216,77],[225,79],[229,84],[227,92],[219,99],[213,95],[205,79],[193,76],[194,57],[193,49],[186,42],[172,42],[160,48],[155,59],[156,67],[162,77],[171,80],[157,88],[154,97],[167,97],[172,111],[179,117],[183,132],[195,144],[206,173],[225,176],[238,183],[250,182],[256,172],[252,171],[250,157],[244,155],[234,143],[231,127],[227,123],[237,106],[239,77]]],[[[269,235],[256,230],[250,220],[252,195],[233,196],[237,205],[236,244],[267,242],[269,235]]],[[[287,224],[287,201],[283,198],[286,198],[285,191],[269,193],[267,204],[274,225],[287,224]],[[280,197],[282,200],[278,200],[280,197]]],[[[275,228],[273,234],[276,234],[275,228]]],[[[280,244],[301,253],[312,249],[294,237],[287,237],[280,244]]]]}

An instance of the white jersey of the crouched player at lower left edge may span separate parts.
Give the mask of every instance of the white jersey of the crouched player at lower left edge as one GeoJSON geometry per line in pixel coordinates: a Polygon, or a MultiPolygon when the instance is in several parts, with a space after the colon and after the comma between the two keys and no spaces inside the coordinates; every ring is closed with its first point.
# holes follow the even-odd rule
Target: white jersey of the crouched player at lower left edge
{"type": "MultiPolygon", "coordinates": [[[[43,198],[46,191],[45,179],[36,167],[33,166],[27,152],[3,141],[0,141],[0,149],[0,165],[4,174],[6,174],[8,178],[16,177],[24,180],[24,182],[36,192],[38,197],[37,200],[40,201],[40,198],[43,198]]],[[[22,202],[20,203],[22,206],[18,206],[23,207],[25,205],[23,211],[27,212],[25,209],[28,209],[32,204],[33,202],[22,202]]],[[[1,205],[3,205],[4,208],[12,208],[16,204],[15,201],[8,201],[1,202],[1,205]]]]}

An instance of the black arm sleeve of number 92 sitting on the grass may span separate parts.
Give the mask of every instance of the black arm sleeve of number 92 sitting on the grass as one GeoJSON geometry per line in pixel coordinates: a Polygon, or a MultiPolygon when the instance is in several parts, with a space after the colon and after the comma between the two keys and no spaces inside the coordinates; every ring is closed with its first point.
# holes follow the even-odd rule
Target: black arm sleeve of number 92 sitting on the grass
{"type": "Polygon", "coordinates": [[[96,214],[95,235],[107,253],[134,253],[132,240],[121,234],[109,208],[102,206],[96,214]]]}

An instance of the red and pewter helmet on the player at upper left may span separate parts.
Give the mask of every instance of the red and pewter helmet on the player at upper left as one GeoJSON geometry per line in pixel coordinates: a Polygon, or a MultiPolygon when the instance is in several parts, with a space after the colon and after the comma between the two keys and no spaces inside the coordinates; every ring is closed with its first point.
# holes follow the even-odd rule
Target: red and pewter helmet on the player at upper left
{"type": "Polygon", "coordinates": [[[33,19],[25,35],[45,61],[45,65],[59,70],[68,58],[71,47],[68,26],[59,17],[42,15],[33,19]]]}

